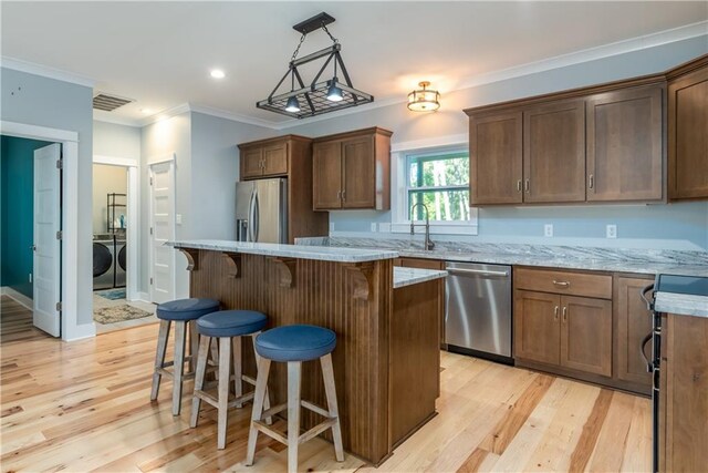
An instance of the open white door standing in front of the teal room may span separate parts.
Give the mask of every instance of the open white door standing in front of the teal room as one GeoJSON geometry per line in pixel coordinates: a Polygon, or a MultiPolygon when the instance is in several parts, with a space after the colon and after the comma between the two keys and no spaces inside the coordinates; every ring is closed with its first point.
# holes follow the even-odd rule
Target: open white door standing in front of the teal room
{"type": "Polygon", "coordinates": [[[61,145],[34,151],[34,327],[60,336],[61,311],[61,145]]]}

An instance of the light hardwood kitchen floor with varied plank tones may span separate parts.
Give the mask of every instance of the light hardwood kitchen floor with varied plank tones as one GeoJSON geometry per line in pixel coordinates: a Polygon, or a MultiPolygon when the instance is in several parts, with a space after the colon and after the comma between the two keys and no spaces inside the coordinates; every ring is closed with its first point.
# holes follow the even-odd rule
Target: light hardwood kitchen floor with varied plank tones
{"type": "MultiPolygon", "coordinates": [[[[190,429],[190,398],[173,418],[168,381],[150,403],[156,338],[156,325],[71,343],[3,338],[2,471],[285,471],[287,451],[266,435],[243,466],[250,404],[230,412],[217,451],[216,410],[204,405],[190,429]]],[[[439,415],[377,471],[650,470],[647,399],[447,352],[442,369],[439,415]]],[[[301,446],[300,470],[376,471],[336,463],[321,439],[301,446]]]]}

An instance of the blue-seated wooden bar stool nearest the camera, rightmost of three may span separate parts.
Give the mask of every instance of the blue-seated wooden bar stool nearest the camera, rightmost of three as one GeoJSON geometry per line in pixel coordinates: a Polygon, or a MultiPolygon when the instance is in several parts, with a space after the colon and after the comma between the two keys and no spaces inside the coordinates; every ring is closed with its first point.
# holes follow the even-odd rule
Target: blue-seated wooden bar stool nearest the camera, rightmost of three
{"type": "Polygon", "coordinates": [[[327,429],[332,429],[334,453],[337,462],[344,461],[342,446],[342,430],[336,404],[334,387],[334,370],[332,369],[332,351],[336,346],[336,335],[322,327],[315,326],[284,326],[268,330],[256,338],[256,351],[260,354],[258,379],[256,381],[256,398],[251,414],[251,429],[248,435],[246,464],[252,465],[256,456],[256,441],[258,432],[288,445],[288,471],[298,471],[298,446],[317,436],[327,429]],[[300,382],[302,362],[320,359],[324,391],[327,398],[327,409],[323,409],[300,398],[300,382]],[[288,402],[263,411],[263,400],[268,384],[268,373],[271,361],[288,363],[288,402]],[[309,431],[300,434],[300,408],[306,408],[325,420],[309,431]],[[266,425],[264,419],[288,409],[288,436],[266,425]]]}

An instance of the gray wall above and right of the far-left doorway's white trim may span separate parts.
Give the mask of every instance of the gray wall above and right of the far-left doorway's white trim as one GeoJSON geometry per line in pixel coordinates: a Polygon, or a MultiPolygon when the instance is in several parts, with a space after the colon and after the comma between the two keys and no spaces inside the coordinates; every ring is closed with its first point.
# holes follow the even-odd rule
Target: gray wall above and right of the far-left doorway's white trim
{"type": "Polygon", "coordinates": [[[67,130],[79,133],[79,208],[64,212],[79,213],[79,276],[76,323],[92,323],[92,138],[93,90],[69,82],[56,81],[25,72],[2,68],[3,121],[67,130]]]}

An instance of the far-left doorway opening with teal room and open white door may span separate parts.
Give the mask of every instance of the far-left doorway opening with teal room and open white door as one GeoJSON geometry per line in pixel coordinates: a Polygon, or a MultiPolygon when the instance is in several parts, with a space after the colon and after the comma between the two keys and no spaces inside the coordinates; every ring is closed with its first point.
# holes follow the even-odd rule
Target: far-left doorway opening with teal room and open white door
{"type": "Polygon", "coordinates": [[[24,337],[39,328],[59,337],[62,146],[7,135],[1,140],[2,331],[24,337]]]}

